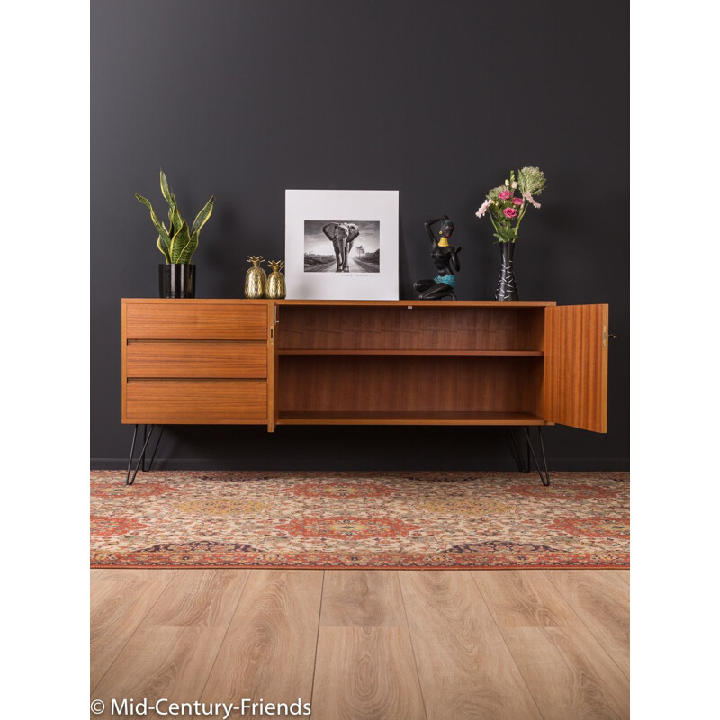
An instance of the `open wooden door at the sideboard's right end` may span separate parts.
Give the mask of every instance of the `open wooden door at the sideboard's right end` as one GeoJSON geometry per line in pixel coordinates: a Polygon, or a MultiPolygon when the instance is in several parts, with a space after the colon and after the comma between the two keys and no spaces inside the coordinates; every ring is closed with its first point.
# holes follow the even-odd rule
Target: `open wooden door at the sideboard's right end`
{"type": "Polygon", "coordinates": [[[545,308],[545,419],[608,432],[608,305],[545,308]]]}

